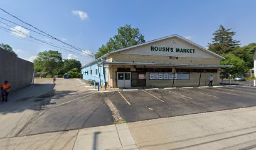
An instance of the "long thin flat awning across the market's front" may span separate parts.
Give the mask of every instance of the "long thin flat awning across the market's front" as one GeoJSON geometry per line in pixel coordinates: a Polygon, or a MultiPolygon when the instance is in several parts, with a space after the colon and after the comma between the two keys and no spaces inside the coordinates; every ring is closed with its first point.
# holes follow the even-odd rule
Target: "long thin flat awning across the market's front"
{"type": "Polygon", "coordinates": [[[221,64],[174,64],[174,63],[127,63],[127,62],[108,62],[104,61],[99,63],[98,65],[119,65],[119,66],[165,66],[165,67],[189,67],[189,68],[232,68],[232,65],[221,65],[221,64]]]}

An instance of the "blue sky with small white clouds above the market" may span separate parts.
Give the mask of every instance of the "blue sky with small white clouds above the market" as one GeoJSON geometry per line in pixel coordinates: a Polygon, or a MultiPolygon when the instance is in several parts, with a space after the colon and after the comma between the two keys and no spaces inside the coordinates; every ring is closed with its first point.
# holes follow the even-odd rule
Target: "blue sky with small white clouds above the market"
{"type": "MultiPolygon", "coordinates": [[[[125,24],[139,27],[146,41],[179,34],[205,47],[211,42],[213,32],[222,24],[237,32],[235,39],[241,41],[242,46],[256,42],[256,1],[1,0],[0,8],[52,36],[92,53],[105,44],[109,37],[114,36],[118,27],[125,24]]],[[[0,17],[24,25],[2,11],[0,17]]],[[[0,26],[4,24],[0,23],[0,26]]],[[[61,44],[33,32],[28,34],[61,44]]],[[[3,30],[0,30],[1,42],[12,46],[19,58],[30,61],[40,51],[56,50],[3,30]]],[[[60,52],[63,59],[75,58],[82,64],[93,59],[90,56],[60,52]]]]}

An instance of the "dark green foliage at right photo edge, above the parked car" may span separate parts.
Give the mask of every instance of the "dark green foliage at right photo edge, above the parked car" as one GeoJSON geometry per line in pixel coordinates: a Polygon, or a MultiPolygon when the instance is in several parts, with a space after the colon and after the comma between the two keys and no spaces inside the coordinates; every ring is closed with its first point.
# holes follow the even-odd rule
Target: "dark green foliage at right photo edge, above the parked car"
{"type": "Polygon", "coordinates": [[[256,43],[250,43],[247,46],[235,49],[234,53],[247,63],[247,67],[253,68],[253,55],[256,51],[256,43]]]}

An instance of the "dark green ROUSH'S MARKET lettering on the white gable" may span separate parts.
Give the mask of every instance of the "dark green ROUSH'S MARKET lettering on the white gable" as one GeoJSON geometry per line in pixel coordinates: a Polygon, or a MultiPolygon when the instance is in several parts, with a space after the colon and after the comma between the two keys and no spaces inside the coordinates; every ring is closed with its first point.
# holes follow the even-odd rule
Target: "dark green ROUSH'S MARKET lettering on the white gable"
{"type": "Polygon", "coordinates": [[[195,49],[184,49],[184,48],[175,48],[174,49],[173,47],[159,47],[159,46],[151,46],[151,51],[195,54],[195,49]]]}

